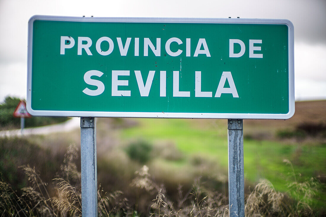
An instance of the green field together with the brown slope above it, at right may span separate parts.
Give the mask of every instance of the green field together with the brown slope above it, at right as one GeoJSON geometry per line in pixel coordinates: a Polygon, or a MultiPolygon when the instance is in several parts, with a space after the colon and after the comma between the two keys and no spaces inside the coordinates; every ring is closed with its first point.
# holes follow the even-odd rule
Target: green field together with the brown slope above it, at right
{"type": "MultiPolygon", "coordinates": [[[[324,185],[326,118],[325,114],[321,114],[321,107],[325,106],[325,101],[299,102],[296,106],[298,110],[296,115],[287,121],[244,120],[245,184],[254,186],[260,179],[267,179],[277,191],[288,192],[293,197],[305,197],[304,192],[301,192],[300,196],[295,196],[293,192],[295,190],[289,189],[289,185],[307,183],[311,178],[317,178],[318,182],[322,183],[323,190],[319,189],[313,204],[323,206],[323,201],[326,199],[324,185]],[[315,118],[311,118],[313,116],[315,118]]],[[[220,177],[221,182],[227,178],[226,120],[136,119],[135,121],[139,125],[123,129],[123,138],[139,138],[154,145],[160,141],[170,142],[182,154],[181,159],[160,159],[160,163],[165,165],[165,170],[168,170],[166,167],[170,165],[174,174],[183,171],[193,175],[208,174],[210,177],[220,177]],[[204,162],[201,171],[196,170],[194,159],[204,162]]],[[[153,164],[155,170],[156,165],[153,164]]]]}

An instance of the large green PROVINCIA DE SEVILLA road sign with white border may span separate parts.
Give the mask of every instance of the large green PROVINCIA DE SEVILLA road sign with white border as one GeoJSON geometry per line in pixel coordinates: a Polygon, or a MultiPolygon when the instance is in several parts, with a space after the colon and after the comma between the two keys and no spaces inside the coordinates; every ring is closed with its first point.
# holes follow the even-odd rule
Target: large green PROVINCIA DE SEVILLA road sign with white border
{"type": "Polygon", "coordinates": [[[289,20],[29,20],[27,110],[90,117],[294,114],[289,20]]]}

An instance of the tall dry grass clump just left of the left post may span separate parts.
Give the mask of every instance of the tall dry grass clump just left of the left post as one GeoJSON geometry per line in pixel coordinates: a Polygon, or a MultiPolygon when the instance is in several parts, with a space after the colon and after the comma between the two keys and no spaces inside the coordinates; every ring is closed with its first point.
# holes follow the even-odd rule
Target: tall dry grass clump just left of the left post
{"type": "Polygon", "coordinates": [[[60,173],[53,179],[55,196],[49,194],[47,183],[42,181],[35,168],[29,165],[22,167],[30,183],[29,187],[22,188],[24,191],[22,197],[30,201],[33,212],[35,210],[41,216],[81,215],[80,173],[74,163],[78,158],[77,153],[76,146],[71,144],[60,173]]]}

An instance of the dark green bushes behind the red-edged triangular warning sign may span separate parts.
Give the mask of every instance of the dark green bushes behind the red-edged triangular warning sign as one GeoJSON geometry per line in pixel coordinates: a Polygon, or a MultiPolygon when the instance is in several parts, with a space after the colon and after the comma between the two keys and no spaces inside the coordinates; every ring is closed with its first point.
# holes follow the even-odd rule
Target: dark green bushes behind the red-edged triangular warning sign
{"type": "MultiPolygon", "coordinates": [[[[14,117],[13,113],[20,102],[19,98],[7,96],[0,104],[0,130],[19,129],[20,118],[14,117]]],[[[25,118],[25,127],[39,127],[68,120],[67,117],[36,117],[25,118]]]]}

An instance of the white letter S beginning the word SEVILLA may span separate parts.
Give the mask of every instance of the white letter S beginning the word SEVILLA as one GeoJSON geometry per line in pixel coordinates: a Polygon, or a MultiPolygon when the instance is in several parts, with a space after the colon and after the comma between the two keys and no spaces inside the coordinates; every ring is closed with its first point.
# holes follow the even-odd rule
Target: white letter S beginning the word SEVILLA
{"type": "Polygon", "coordinates": [[[91,89],[85,88],[83,90],[83,93],[85,93],[85,94],[87,94],[89,96],[98,96],[101,93],[103,93],[104,89],[105,89],[104,84],[99,80],[95,80],[95,79],[91,78],[91,76],[101,77],[102,75],[103,75],[103,72],[100,72],[98,70],[90,70],[90,71],[86,72],[85,75],[84,75],[85,83],[89,84],[89,85],[96,86],[97,89],[96,90],[91,90],[91,89]]]}

